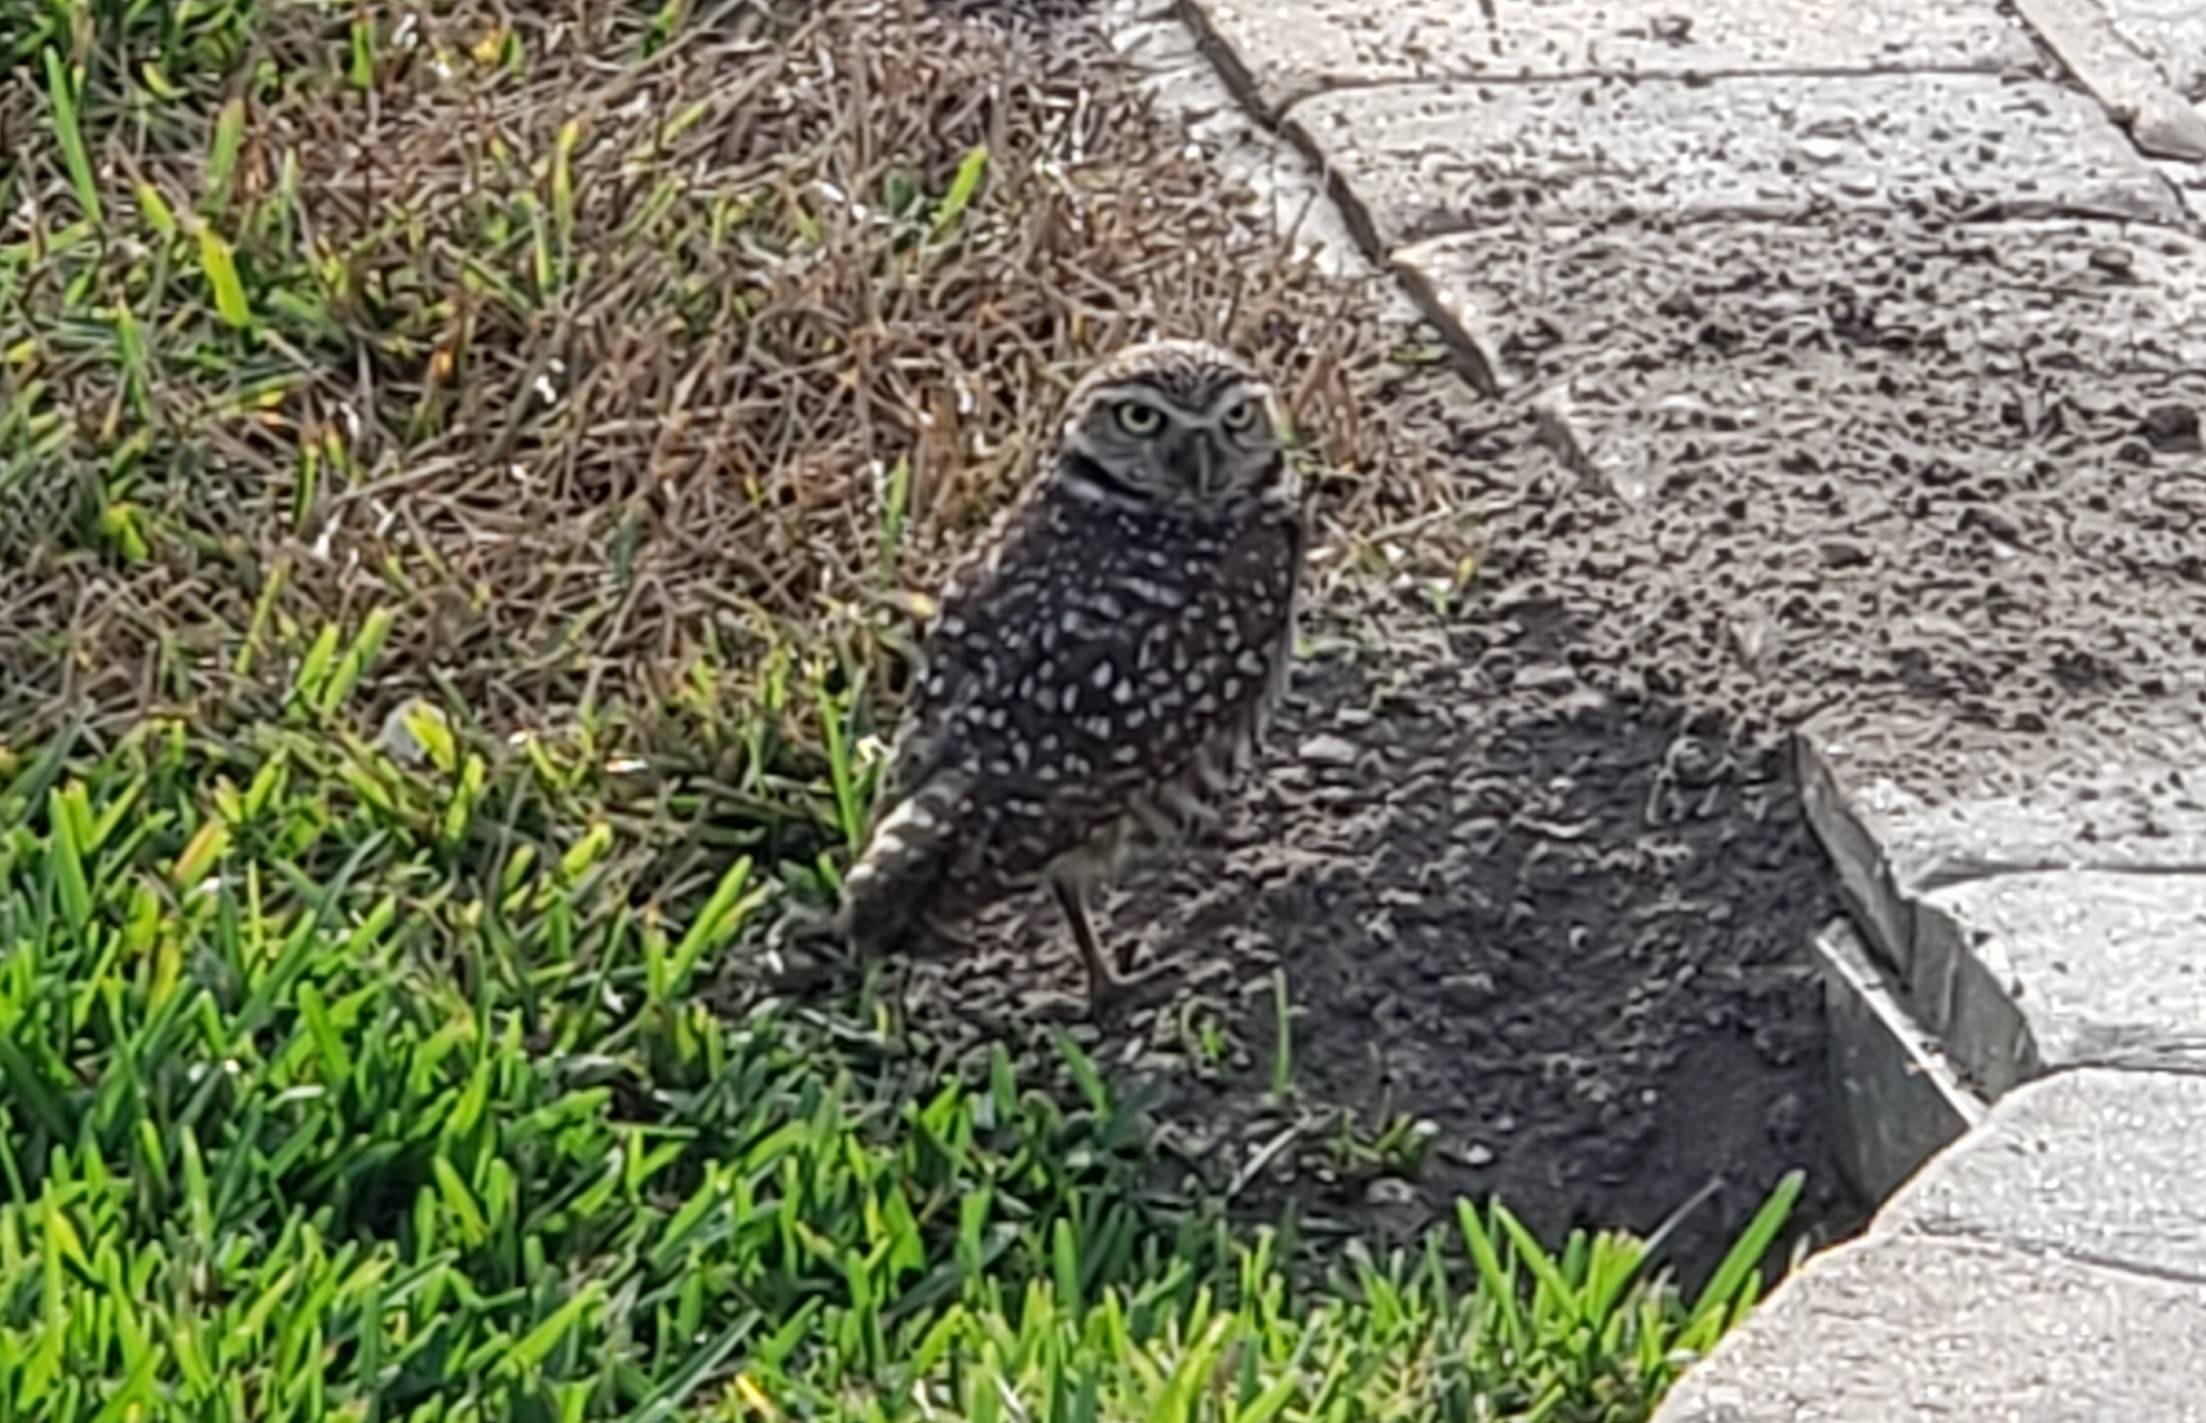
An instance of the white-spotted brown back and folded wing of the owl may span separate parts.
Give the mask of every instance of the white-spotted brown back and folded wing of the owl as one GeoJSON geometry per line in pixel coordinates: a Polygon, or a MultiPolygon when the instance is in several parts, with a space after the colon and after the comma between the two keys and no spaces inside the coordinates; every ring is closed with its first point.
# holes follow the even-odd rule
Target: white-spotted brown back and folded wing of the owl
{"type": "Polygon", "coordinates": [[[882,819],[845,885],[893,944],[1090,847],[1249,728],[1279,675],[1293,510],[1209,521],[1043,485],[944,591],[882,819]]]}

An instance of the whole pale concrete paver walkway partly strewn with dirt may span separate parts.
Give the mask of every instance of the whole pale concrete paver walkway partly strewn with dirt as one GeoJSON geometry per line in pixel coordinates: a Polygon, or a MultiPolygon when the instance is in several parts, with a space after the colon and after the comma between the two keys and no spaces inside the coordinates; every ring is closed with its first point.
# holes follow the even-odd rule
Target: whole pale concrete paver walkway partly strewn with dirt
{"type": "MultiPolygon", "coordinates": [[[[1661,496],[1663,452],[1694,448],[1679,441],[1875,421],[1866,357],[1778,379],[1743,355],[1703,371],[1736,386],[1710,390],[1604,344],[1619,309],[1679,300],[1659,278],[1721,271],[1734,252],[1765,271],[1875,274],[1902,307],[1963,302],[1988,368],[2023,364],[2054,388],[2043,335],[2058,315],[2071,335],[2056,355],[2135,397],[2135,459],[2164,461],[2135,525],[2149,534],[2153,501],[2206,483],[2206,4],[1182,11],[1242,104],[1326,170],[1357,243],[1454,335],[1476,384],[1535,402],[1557,457],[1624,505],[1661,496]],[[1880,236],[1877,218],[1946,245],[1880,236]],[[1955,232],[2021,256],[1985,280],[1955,232]]],[[[1782,289],[1725,300],[1710,315],[1723,340],[1798,313],[1782,289]]],[[[2043,426],[2030,399],[2007,410],[2025,432],[2043,426]]],[[[1734,446],[1818,468],[1813,448],[1758,439],[1734,446]]],[[[2034,516],[1983,521],[2007,525],[1994,545],[2023,547],[2034,516]]],[[[1659,1419],[2206,1419],[2206,587],[2182,571],[2197,554],[2045,563],[2076,582],[2063,607],[2135,598],[2162,569],[2188,585],[2127,613],[2168,649],[2135,708],[1988,728],[1996,688],[1833,688],[1798,728],[1809,816],[1853,909],[1816,949],[1838,1099],[1857,1185],[1886,1205],[1659,1419]]],[[[1871,556],[1824,547],[1831,567],[1871,556]]],[[[2080,611],[2067,631],[2096,627],[2080,611]]],[[[1970,635],[1952,631],[1963,671],[1970,635]]]]}

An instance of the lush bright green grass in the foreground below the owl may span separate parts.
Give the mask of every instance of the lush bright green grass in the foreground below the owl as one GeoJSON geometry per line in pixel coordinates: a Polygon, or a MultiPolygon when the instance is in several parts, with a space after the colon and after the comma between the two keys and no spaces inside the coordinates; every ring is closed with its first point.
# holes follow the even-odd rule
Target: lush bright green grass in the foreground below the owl
{"type": "Polygon", "coordinates": [[[1789,1191],[1699,1302],[1498,1207],[1295,1288],[1070,1041],[721,1019],[743,863],[666,922],[554,752],[443,759],[7,779],[0,1416],[1637,1419],[1758,1291],[1789,1191]]]}

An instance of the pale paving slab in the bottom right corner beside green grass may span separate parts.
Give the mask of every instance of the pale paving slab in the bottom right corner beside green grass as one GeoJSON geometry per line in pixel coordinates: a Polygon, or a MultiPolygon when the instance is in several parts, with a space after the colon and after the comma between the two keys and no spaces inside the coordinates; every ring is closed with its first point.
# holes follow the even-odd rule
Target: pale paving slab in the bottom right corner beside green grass
{"type": "Polygon", "coordinates": [[[2202,1350],[2197,1284],[1873,1233],[1778,1286],[1654,1423],[2199,1423],[2202,1350]]]}

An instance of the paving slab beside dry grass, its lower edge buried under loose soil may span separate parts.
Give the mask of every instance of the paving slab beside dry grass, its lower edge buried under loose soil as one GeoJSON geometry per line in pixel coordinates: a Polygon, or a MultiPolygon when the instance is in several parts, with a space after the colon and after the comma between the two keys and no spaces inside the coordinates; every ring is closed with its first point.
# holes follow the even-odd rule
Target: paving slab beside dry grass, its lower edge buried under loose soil
{"type": "Polygon", "coordinates": [[[1403,247],[1394,267],[1427,311],[1485,353],[1498,384],[1531,382],[1538,362],[1568,366],[1579,384],[1619,386],[1606,397],[1562,390],[1551,402],[1575,446],[1566,459],[1610,485],[1661,483],[1670,452],[1650,441],[1650,426],[1690,428],[1703,441],[1721,439],[1716,426],[1725,426],[1752,439],[1782,424],[1785,399],[1831,413],[1860,399],[1864,415],[1871,406],[1888,413],[1880,384],[1910,349],[2032,382],[2047,362],[2093,373],[2206,371],[2206,243],[2146,223],[2054,218],[1928,232],[1913,218],[1864,216],[1628,234],[1465,232],[1403,247]],[[1831,331],[1849,315],[1835,304],[1851,304],[1851,342],[1831,331]],[[1789,333],[1787,362],[1816,366],[1816,379],[1754,388],[1752,360],[1648,362],[1637,351],[1648,331],[1690,342],[1696,324],[1771,340],[1789,333]],[[1557,349],[1557,338],[1568,344],[1557,349]],[[1882,344],[1864,351],[1868,338],[1882,344]]]}

